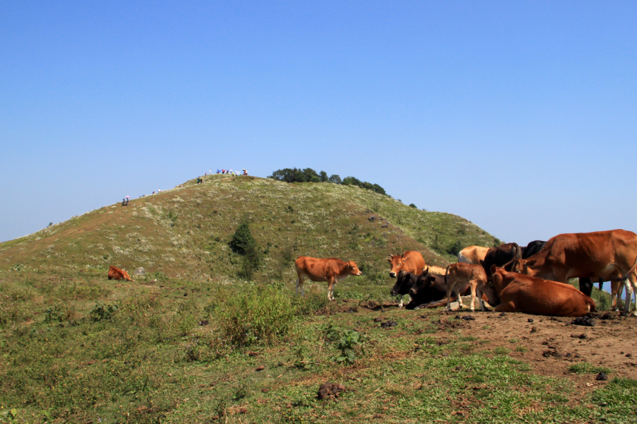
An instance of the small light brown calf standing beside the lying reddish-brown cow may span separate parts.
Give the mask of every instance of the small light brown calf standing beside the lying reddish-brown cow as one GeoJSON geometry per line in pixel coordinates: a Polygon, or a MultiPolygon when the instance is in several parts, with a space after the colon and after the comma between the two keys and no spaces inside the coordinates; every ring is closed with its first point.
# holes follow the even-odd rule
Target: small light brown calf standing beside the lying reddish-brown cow
{"type": "MultiPolygon", "coordinates": [[[[451,310],[452,292],[455,291],[459,293],[459,290],[466,285],[469,285],[469,288],[471,288],[471,312],[475,311],[474,302],[476,300],[476,293],[481,310],[485,310],[482,293],[485,293],[489,300],[493,301],[497,298],[493,288],[488,286],[486,273],[480,265],[460,263],[449,265],[447,266],[445,279],[447,280],[447,310],[451,310]]],[[[462,309],[461,297],[459,297],[458,302],[460,309],[462,309]]]]}

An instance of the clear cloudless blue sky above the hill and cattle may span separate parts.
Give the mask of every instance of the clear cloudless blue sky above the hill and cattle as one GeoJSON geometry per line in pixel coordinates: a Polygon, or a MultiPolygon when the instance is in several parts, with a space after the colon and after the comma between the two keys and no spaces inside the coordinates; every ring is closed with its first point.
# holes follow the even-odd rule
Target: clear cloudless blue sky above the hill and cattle
{"type": "Polygon", "coordinates": [[[0,3],[0,240],[217,167],[507,242],[637,230],[637,4],[0,3]]]}

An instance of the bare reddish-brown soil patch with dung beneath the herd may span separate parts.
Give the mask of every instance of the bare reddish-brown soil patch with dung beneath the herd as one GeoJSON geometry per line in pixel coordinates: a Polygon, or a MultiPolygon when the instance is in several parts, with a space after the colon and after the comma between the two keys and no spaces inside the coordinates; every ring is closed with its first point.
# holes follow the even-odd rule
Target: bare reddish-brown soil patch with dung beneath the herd
{"type": "MultiPolygon", "coordinates": [[[[469,309],[447,312],[442,308],[398,312],[398,305],[389,303],[360,311],[369,314],[374,309],[381,312],[378,316],[382,321],[393,315],[383,311],[396,311],[403,317],[403,314],[411,314],[414,320],[422,320],[424,315],[424,319],[437,325],[438,331],[429,335],[440,339],[440,343],[444,343],[450,331],[459,331],[465,337],[474,336],[480,341],[476,351],[505,348],[507,355],[527,363],[534,374],[566,377],[581,393],[607,384],[612,377],[637,379],[637,317],[621,317],[619,312],[594,312],[590,316],[595,326],[581,326],[572,324],[574,318],[570,317],[510,312],[503,315],[469,309]],[[474,319],[466,319],[469,316],[474,319]],[[573,372],[570,368],[576,364],[595,371],[573,372]],[[597,368],[607,370],[609,380],[596,380],[597,368]]],[[[396,337],[413,334],[400,326],[396,326],[395,331],[396,337]]]]}

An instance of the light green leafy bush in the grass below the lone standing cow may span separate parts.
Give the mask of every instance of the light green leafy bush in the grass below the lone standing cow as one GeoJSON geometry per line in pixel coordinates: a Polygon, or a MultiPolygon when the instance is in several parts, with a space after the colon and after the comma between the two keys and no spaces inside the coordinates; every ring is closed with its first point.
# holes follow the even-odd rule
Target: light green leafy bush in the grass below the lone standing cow
{"type": "Polygon", "coordinates": [[[297,307],[280,286],[241,288],[212,310],[234,346],[271,344],[292,327],[297,307]]]}

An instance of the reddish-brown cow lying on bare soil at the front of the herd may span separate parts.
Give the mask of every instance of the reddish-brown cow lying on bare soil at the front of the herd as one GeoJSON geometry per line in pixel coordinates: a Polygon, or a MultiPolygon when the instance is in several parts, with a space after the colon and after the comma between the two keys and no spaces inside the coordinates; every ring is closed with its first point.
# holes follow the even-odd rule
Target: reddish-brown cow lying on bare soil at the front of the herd
{"type": "Polygon", "coordinates": [[[595,300],[573,285],[525,276],[493,265],[493,288],[500,305],[495,312],[524,312],[553,317],[582,317],[595,312],[595,300]]]}

